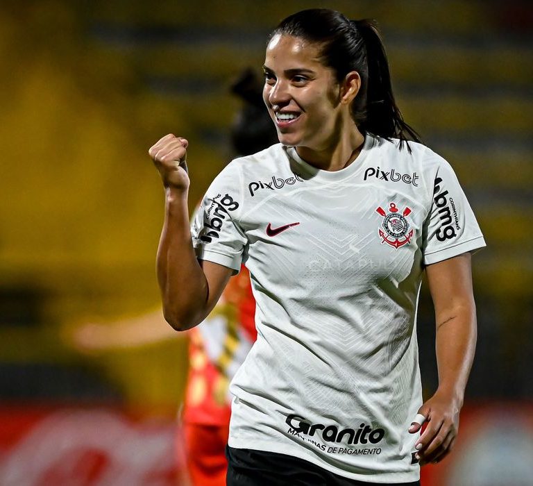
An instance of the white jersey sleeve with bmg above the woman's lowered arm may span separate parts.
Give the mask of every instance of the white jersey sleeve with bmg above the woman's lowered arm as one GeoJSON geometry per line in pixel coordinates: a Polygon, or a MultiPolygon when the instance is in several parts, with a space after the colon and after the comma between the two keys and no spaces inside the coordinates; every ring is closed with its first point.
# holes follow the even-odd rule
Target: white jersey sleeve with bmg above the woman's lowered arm
{"type": "Polygon", "coordinates": [[[485,246],[480,226],[452,167],[443,158],[433,156],[437,157],[437,171],[431,210],[423,231],[425,265],[485,246]]]}

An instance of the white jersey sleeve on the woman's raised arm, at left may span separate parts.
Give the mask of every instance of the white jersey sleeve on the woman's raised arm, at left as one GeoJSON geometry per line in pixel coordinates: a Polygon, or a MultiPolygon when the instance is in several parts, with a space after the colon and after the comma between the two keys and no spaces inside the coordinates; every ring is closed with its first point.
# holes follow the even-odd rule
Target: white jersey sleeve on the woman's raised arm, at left
{"type": "Polygon", "coordinates": [[[191,224],[196,258],[235,270],[241,267],[246,235],[239,227],[242,212],[240,172],[231,162],[214,179],[191,224]]]}

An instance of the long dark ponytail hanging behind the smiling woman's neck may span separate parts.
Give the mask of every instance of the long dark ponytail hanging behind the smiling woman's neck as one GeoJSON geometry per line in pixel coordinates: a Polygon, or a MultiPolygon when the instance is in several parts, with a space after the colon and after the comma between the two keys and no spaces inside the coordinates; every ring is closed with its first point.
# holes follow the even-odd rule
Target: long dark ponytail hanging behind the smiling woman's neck
{"type": "Polygon", "coordinates": [[[353,117],[364,132],[379,135],[387,140],[391,137],[400,139],[411,151],[408,140],[420,142],[418,133],[403,119],[394,100],[391,74],[387,53],[376,27],[375,21],[352,20],[350,23],[359,33],[366,49],[366,79],[362,79],[361,96],[357,96],[353,106],[353,117]]]}

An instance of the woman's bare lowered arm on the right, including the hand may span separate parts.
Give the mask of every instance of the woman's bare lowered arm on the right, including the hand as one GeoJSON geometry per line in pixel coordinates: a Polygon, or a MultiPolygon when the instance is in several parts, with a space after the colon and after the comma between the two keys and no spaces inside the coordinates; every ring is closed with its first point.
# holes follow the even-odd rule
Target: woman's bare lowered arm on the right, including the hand
{"type": "MultiPolygon", "coordinates": [[[[439,462],[452,449],[477,337],[471,254],[428,265],[426,274],[435,308],[439,387],[418,410],[428,421],[416,442],[421,465],[439,462]]],[[[420,428],[414,424],[409,432],[420,428]]]]}

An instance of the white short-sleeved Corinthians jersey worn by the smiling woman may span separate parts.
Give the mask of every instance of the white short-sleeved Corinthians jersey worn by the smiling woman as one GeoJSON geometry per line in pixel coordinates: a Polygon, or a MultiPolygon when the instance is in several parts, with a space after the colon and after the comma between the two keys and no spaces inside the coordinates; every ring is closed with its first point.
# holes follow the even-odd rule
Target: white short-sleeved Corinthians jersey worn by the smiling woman
{"type": "Polygon", "coordinates": [[[446,160],[366,135],[323,171],[281,144],[232,161],[192,224],[198,258],[251,272],[257,342],[232,380],[229,445],[355,480],[418,479],[423,266],[484,246],[446,160]]]}

